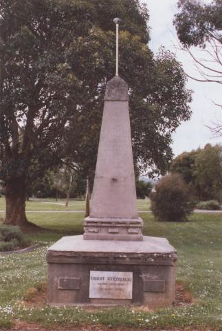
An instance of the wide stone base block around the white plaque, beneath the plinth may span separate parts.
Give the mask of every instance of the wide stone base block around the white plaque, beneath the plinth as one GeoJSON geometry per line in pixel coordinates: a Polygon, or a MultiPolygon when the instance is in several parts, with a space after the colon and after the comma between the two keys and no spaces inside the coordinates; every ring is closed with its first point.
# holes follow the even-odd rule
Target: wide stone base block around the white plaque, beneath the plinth
{"type": "Polygon", "coordinates": [[[82,236],[63,237],[47,251],[47,301],[55,306],[172,305],[176,261],[175,248],[164,238],[144,236],[143,241],[104,244],[100,240],[83,240],[82,236]],[[119,299],[90,297],[91,272],[131,274],[132,299],[124,299],[121,294],[119,299]]]}

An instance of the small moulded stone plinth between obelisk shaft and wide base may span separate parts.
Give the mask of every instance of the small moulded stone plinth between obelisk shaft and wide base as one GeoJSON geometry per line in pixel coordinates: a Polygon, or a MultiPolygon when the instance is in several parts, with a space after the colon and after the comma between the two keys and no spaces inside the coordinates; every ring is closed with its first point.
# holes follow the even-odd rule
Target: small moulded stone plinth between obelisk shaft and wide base
{"type": "Polygon", "coordinates": [[[142,241],[143,221],[137,219],[114,219],[87,217],[84,221],[85,240],[142,241]]]}

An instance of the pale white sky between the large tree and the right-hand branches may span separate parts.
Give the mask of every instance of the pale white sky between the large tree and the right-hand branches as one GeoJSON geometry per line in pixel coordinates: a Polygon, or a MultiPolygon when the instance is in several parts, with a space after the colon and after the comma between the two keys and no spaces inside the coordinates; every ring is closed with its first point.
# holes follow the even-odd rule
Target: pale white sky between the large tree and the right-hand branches
{"type": "MultiPolygon", "coordinates": [[[[151,28],[151,41],[149,46],[157,52],[160,46],[176,54],[177,60],[182,63],[184,71],[192,77],[197,77],[197,69],[188,54],[176,48],[177,38],[173,26],[173,16],[177,12],[177,0],[145,0],[150,19],[148,26],[151,28]]],[[[199,54],[198,50],[193,50],[199,54]]],[[[182,122],[173,134],[173,152],[175,156],[192,149],[203,148],[206,143],[212,145],[222,142],[222,137],[214,137],[207,126],[212,126],[216,119],[222,121],[222,110],[214,105],[222,104],[221,86],[217,83],[201,83],[188,79],[187,88],[193,90],[192,118],[182,122]]]]}

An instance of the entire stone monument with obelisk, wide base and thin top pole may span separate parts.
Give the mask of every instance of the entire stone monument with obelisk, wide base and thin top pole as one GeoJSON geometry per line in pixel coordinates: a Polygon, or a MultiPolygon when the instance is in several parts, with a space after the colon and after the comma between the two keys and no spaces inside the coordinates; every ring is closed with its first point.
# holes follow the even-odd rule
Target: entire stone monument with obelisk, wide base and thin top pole
{"type": "Polygon", "coordinates": [[[83,236],[47,251],[49,305],[148,305],[175,301],[177,253],[165,238],[142,235],[137,214],[128,86],[107,83],[91,212],[83,236]]]}

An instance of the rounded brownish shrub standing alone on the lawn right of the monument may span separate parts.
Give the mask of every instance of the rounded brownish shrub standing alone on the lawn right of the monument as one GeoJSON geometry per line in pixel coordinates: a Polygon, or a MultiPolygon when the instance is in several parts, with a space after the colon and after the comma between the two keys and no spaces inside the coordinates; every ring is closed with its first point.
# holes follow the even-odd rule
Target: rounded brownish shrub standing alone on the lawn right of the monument
{"type": "Polygon", "coordinates": [[[186,221],[194,209],[188,185],[180,174],[169,174],[151,193],[151,210],[159,221],[186,221]]]}

